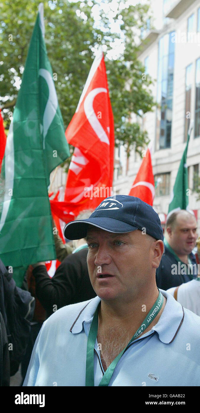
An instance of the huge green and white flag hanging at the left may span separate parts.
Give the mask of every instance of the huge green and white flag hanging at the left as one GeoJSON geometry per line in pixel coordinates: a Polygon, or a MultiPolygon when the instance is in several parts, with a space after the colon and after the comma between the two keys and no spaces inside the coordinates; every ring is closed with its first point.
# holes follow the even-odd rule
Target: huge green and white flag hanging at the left
{"type": "Polygon", "coordinates": [[[18,286],[29,264],[56,258],[49,174],[68,157],[40,3],[1,173],[0,258],[18,286]]]}

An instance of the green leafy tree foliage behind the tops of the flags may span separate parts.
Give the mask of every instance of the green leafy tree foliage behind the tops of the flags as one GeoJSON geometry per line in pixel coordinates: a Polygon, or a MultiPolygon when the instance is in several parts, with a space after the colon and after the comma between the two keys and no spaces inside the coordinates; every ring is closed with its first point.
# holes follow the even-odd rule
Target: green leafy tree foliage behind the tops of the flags
{"type": "MultiPolygon", "coordinates": [[[[0,106],[7,127],[13,112],[26,61],[30,37],[40,0],[4,0],[0,21],[0,106]]],[[[155,102],[149,86],[152,81],[144,75],[144,66],[137,59],[135,30],[145,27],[147,5],[120,7],[112,11],[113,2],[66,0],[44,1],[45,41],[54,73],[56,92],[65,127],[70,123],[91,68],[95,49],[102,44],[109,92],[115,122],[116,145],[123,143],[127,153],[135,147],[140,152],[148,142],[146,131],[130,121],[131,114],[139,116],[153,109],[155,102]],[[110,23],[119,23],[121,32],[113,32],[110,23]],[[98,20],[93,10],[98,9],[98,20]],[[121,52],[110,59],[117,44],[124,42],[121,52]]]]}

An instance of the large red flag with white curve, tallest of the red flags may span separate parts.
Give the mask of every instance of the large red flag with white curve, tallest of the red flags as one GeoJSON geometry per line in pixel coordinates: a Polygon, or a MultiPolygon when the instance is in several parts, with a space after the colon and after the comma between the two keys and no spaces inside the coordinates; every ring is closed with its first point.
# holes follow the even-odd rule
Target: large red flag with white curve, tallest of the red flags
{"type": "Polygon", "coordinates": [[[102,50],[93,61],[65,135],[75,147],[67,174],[65,202],[70,203],[68,211],[77,216],[83,209],[95,209],[112,195],[114,120],[102,50]]]}

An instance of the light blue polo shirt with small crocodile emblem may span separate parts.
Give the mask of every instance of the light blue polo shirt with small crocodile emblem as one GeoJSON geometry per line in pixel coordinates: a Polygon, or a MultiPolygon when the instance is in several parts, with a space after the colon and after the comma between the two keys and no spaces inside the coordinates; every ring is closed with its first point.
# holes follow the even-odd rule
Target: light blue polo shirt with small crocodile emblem
{"type": "MultiPolygon", "coordinates": [[[[200,385],[200,317],[160,291],[167,303],[158,323],[130,344],[109,386],[200,385]]],[[[99,301],[65,306],[45,321],[23,386],[85,386],[87,337],[99,301]]],[[[103,373],[96,341],[95,386],[103,373]]]]}

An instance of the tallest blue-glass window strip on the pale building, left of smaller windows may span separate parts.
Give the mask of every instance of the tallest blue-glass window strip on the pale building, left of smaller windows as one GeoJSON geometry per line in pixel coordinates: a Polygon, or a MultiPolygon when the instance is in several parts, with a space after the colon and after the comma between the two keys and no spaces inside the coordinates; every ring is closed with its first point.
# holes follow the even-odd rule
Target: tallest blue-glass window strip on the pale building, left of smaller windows
{"type": "Polygon", "coordinates": [[[156,111],[156,150],[171,146],[172,100],[174,80],[174,32],[163,36],[158,48],[158,83],[156,111]]]}

